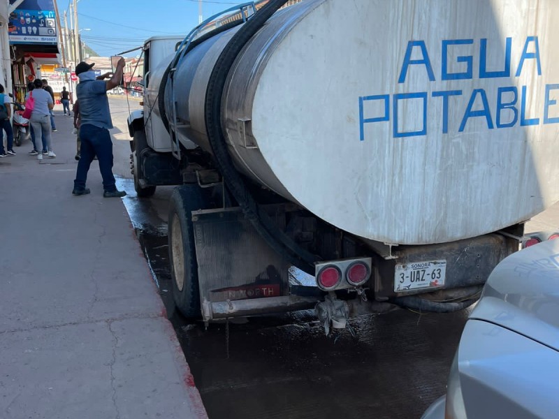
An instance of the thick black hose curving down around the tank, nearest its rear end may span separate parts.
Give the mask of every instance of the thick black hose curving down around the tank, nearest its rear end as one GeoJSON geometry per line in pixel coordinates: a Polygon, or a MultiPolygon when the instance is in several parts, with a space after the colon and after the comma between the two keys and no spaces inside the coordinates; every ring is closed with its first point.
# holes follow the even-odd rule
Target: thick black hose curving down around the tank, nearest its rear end
{"type": "Polygon", "coordinates": [[[219,55],[206,91],[205,124],[217,167],[222,172],[229,191],[239,203],[245,217],[272,249],[299,269],[314,275],[314,262],[318,258],[291,240],[277,227],[266,212],[260,210],[259,205],[247,188],[245,180],[233,166],[222,130],[222,95],[229,70],[245,44],[261,29],[270,16],[286,2],[287,0],[272,0],[266,6],[263,6],[237,31],[222,51],[222,54],[219,55]]]}

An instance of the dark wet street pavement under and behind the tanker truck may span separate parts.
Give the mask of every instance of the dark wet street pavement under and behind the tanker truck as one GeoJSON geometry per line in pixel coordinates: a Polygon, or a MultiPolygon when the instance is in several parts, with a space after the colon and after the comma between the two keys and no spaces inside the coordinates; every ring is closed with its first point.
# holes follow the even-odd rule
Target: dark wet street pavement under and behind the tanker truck
{"type": "MultiPolygon", "coordinates": [[[[111,100],[117,131],[126,131],[126,101],[111,100]]],[[[123,135],[124,137],[124,135],[123,135]]],[[[129,193],[126,209],[150,264],[204,402],[221,418],[419,418],[446,392],[447,374],[468,310],[418,314],[400,310],[351,320],[356,337],[324,335],[313,311],[189,323],[175,311],[168,265],[167,213],[172,187],[138,199],[115,155],[129,193]]],[[[559,226],[559,206],[527,230],[559,226]]]]}

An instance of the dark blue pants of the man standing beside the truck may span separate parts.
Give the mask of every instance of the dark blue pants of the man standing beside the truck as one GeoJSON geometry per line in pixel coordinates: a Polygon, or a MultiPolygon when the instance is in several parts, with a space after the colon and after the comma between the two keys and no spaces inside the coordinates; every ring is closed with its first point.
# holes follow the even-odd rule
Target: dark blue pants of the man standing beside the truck
{"type": "Polygon", "coordinates": [[[112,175],[112,141],[109,130],[91,124],[80,126],[81,159],[78,161],[78,170],[75,173],[74,189],[84,189],[87,181],[87,172],[93,158],[99,159],[99,171],[103,177],[103,189],[108,192],[117,190],[115,177],[112,175]]]}

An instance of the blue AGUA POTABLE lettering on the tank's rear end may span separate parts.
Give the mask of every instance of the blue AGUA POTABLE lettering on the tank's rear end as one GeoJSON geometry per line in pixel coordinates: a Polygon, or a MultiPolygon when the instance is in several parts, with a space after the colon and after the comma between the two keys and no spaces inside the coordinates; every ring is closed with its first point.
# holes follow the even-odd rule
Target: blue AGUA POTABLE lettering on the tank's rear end
{"type": "MultiPolygon", "coordinates": [[[[493,87],[493,91],[488,90],[487,82],[476,88],[475,81],[486,79],[507,79],[522,75],[523,71],[528,71],[537,76],[542,75],[542,57],[539,52],[539,39],[537,36],[528,36],[523,43],[514,43],[511,37],[505,38],[504,43],[493,42],[491,45],[500,45],[501,51],[493,51],[488,38],[481,38],[478,41],[469,38],[446,39],[441,41],[440,49],[440,81],[445,82],[447,89],[429,89],[433,84],[427,84],[425,91],[406,91],[405,86],[398,86],[397,91],[392,94],[375,94],[372,96],[358,97],[359,111],[359,135],[360,140],[365,140],[365,124],[391,124],[393,138],[407,138],[427,135],[431,124],[437,118],[430,115],[433,106],[442,105],[442,133],[448,134],[454,126],[458,127],[458,132],[467,130],[467,124],[472,118],[484,118],[488,129],[512,128],[515,126],[537,126],[543,124],[559,124],[559,98],[552,96],[559,90],[559,84],[545,84],[544,103],[542,107],[542,91],[536,91],[535,87],[521,86],[516,87],[515,82],[502,82],[493,87]],[[522,54],[518,60],[518,66],[512,68],[512,48],[517,45],[518,52],[522,47],[522,54]],[[500,53],[500,54],[499,54],[500,53]],[[479,60],[476,61],[476,54],[479,60]],[[499,54],[503,57],[502,65],[488,68],[488,57],[499,54]],[[476,64],[474,66],[474,64],[476,64]],[[526,65],[525,65],[526,64],[526,65]],[[467,89],[460,89],[460,83],[467,89]],[[504,85],[503,85],[504,84],[504,85]],[[449,89],[451,87],[451,89],[449,89]],[[456,88],[453,88],[456,87],[456,88]],[[528,94],[537,98],[539,103],[528,104],[528,94]],[[461,96],[470,95],[467,105],[465,98],[461,96]],[[439,101],[442,98],[442,102],[439,101]],[[489,100],[491,98],[491,101],[489,100]],[[365,109],[365,103],[369,101],[379,102],[377,114],[365,115],[365,112],[372,112],[365,109]],[[421,107],[421,108],[420,108],[421,107]],[[458,107],[458,108],[457,108],[458,107]],[[392,108],[392,110],[391,110],[392,108]],[[528,109],[529,108],[529,109],[528,109]],[[528,112],[542,112],[539,115],[528,115],[528,112]],[[452,121],[451,115],[460,115],[461,121],[452,121]],[[495,119],[493,119],[493,116],[495,119]],[[423,122],[421,128],[414,128],[416,131],[400,131],[400,127],[409,125],[409,121],[423,122]],[[453,125],[456,124],[456,125],[453,125]]],[[[407,43],[398,84],[405,84],[408,73],[415,72],[410,84],[417,84],[421,81],[423,74],[427,75],[429,82],[436,82],[433,64],[439,61],[432,61],[425,41],[414,40],[407,43]],[[415,59],[412,56],[415,55],[415,59]]],[[[494,84],[491,84],[494,86],[494,84]]],[[[538,84],[539,86],[539,84],[538,84]]],[[[438,84],[437,84],[438,87],[438,84]]],[[[541,89],[541,87],[539,87],[541,89]]],[[[385,127],[388,128],[388,127],[385,127]]],[[[405,128],[403,128],[405,129],[405,128]]],[[[409,129],[409,128],[408,128],[409,129]]],[[[456,128],[454,128],[456,129],[456,128]]]]}

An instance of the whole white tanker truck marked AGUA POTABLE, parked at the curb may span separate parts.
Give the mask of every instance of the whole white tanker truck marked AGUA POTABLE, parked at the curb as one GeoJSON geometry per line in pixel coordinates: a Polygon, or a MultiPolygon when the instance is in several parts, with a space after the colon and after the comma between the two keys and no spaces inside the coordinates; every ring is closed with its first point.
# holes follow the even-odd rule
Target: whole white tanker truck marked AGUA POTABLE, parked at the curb
{"type": "Polygon", "coordinates": [[[134,183],[180,185],[178,309],[469,306],[559,199],[559,2],[286,3],[144,45],[134,183]]]}

